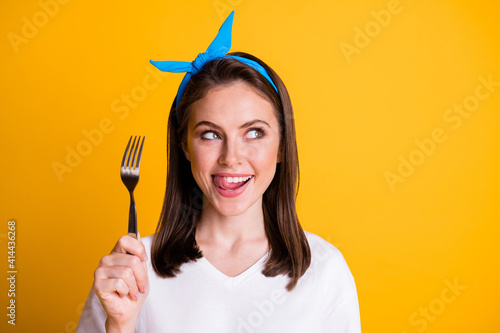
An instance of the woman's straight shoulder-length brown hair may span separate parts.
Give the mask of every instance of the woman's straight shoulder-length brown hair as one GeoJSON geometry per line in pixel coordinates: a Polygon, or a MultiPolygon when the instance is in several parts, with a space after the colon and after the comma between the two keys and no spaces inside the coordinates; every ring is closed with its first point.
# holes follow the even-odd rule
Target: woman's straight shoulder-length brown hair
{"type": "Polygon", "coordinates": [[[203,194],[182,150],[189,107],[216,86],[245,82],[273,105],[280,125],[282,159],[262,200],[265,231],[271,249],[262,273],[267,277],[288,275],[287,290],[290,291],[311,262],[309,244],[295,208],[299,161],[292,103],[285,85],[269,66],[247,53],[233,52],[230,55],[245,57],[263,66],[278,88],[279,96],[262,74],[228,57],[207,62],[191,77],[178,106],[174,99],[168,119],[166,193],[151,248],[153,268],[161,277],[174,277],[183,263],[203,256],[195,240],[196,225],[203,209],[203,194]]]}

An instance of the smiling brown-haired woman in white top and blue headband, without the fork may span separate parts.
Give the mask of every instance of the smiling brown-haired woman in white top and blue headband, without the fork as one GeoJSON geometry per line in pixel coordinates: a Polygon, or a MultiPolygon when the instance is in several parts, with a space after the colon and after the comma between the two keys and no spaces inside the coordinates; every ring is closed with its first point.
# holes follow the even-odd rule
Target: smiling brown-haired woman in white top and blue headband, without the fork
{"type": "Polygon", "coordinates": [[[345,260],[296,215],[287,90],[259,59],[226,54],[233,15],[192,63],[152,62],[188,72],[162,215],[102,258],[77,332],[360,332],[345,260]]]}

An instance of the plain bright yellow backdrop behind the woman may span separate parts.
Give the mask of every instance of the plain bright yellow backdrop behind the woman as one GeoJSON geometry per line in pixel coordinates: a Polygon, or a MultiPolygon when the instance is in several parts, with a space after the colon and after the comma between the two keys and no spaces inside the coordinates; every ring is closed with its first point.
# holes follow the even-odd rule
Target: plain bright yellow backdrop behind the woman
{"type": "Polygon", "coordinates": [[[193,60],[232,9],[232,50],[262,58],[290,91],[299,216],[346,257],[363,331],[500,331],[497,1],[73,0],[45,6],[51,15],[40,3],[54,1],[0,4],[0,262],[6,276],[14,219],[18,270],[17,324],[3,278],[0,331],[74,331],[99,259],[127,231],[119,164],[132,134],[147,136],[139,230],[154,231],[182,75],[154,79],[148,61],[193,60]],[[347,44],[357,51],[346,56],[347,44]],[[476,110],[446,121],[488,76],[497,86],[476,110]],[[84,131],[103,121],[111,128],[89,146],[84,131]],[[446,140],[419,153],[415,140],[436,128],[446,140]],[[86,156],[68,167],[78,147],[86,156]],[[391,185],[387,172],[410,156],[419,165],[391,185]],[[59,177],[54,162],[68,167],[59,177]]]}

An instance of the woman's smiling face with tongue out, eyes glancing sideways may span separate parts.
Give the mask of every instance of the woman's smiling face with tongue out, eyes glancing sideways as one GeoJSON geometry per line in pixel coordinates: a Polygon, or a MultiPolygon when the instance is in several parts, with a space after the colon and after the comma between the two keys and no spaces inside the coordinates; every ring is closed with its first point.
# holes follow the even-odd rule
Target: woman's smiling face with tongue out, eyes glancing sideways
{"type": "Polygon", "coordinates": [[[243,82],[212,88],[191,105],[184,153],[205,208],[225,216],[262,210],[280,162],[278,126],[272,104],[243,82]]]}

